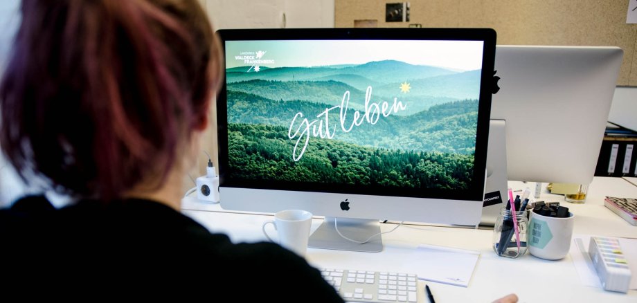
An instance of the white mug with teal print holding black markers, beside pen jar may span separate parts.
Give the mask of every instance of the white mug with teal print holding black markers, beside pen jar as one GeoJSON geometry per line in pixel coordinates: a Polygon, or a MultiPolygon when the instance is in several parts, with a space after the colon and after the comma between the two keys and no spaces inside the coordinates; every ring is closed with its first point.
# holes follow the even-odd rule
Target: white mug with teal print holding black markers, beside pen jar
{"type": "Polygon", "coordinates": [[[566,257],[571,249],[575,217],[568,212],[566,218],[546,217],[531,212],[528,225],[528,251],[547,260],[566,257]]]}

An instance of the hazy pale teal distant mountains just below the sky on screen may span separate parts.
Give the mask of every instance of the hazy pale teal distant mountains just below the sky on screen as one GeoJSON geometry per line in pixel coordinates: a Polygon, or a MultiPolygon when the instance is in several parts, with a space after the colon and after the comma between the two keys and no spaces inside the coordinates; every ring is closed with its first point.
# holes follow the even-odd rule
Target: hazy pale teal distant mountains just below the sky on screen
{"type": "Polygon", "coordinates": [[[397,98],[407,104],[406,111],[397,113],[399,116],[409,116],[454,100],[476,99],[480,89],[480,71],[458,73],[391,60],[342,68],[283,67],[263,68],[258,73],[242,72],[248,68],[228,68],[228,79],[232,79],[228,81],[228,90],[253,93],[271,100],[307,100],[332,105],[341,104],[343,94],[350,91],[350,107],[363,109],[366,90],[372,86],[371,102],[393,102],[397,98]],[[418,79],[407,81],[407,77],[418,79]],[[398,78],[400,82],[395,81],[398,78]],[[411,86],[408,93],[400,89],[404,82],[411,86]]]}

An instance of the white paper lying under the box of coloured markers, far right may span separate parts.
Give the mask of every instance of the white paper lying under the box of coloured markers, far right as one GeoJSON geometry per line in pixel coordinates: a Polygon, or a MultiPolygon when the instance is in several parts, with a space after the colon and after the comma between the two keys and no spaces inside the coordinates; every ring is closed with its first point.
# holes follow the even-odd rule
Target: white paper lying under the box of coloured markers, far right
{"type": "MultiPolygon", "coordinates": [[[[632,273],[630,280],[630,289],[637,289],[637,239],[617,238],[622,247],[622,251],[626,255],[628,267],[632,273]]],[[[573,243],[571,243],[571,259],[575,265],[577,274],[580,275],[580,281],[584,286],[592,286],[602,288],[600,278],[595,272],[591,258],[589,257],[589,241],[591,235],[573,235],[573,243]]]]}

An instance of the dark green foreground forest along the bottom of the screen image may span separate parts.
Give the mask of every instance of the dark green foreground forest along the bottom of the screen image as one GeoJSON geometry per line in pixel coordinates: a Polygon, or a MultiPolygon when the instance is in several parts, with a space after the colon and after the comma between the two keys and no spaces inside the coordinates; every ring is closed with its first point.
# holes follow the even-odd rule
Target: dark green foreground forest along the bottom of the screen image
{"type": "Polygon", "coordinates": [[[316,139],[303,158],[289,156],[285,127],[229,125],[232,178],[364,186],[467,189],[474,157],[439,152],[373,149],[316,139]]]}

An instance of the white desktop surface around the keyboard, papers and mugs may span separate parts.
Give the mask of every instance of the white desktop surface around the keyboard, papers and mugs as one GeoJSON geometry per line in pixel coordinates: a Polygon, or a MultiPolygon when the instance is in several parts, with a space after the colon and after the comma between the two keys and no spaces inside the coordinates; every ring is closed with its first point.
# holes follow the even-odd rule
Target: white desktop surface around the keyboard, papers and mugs
{"type": "MultiPolygon", "coordinates": [[[[514,189],[535,188],[535,184],[511,182],[514,189]]],[[[637,197],[637,186],[622,178],[595,177],[586,203],[564,202],[564,197],[543,192],[540,199],[560,201],[576,216],[575,234],[607,235],[637,238],[637,228],[604,207],[604,196],[637,197]]],[[[199,203],[196,199],[183,201],[183,213],[199,221],[212,232],[223,232],[232,241],[264,241],[261,225],[267,214],[224,212],[218,205],[199,203]]],[[[312,231],[321,218],[314,219],[312,231]]],[[[382,230],[393,228],[383,224],[382,230]]],[[[516,293],[520,302],[637,302],[637,291],[612,293],[602,288],[583,286],[570,255],[559,261],[546,261],[526,254],[519,259],[499,257],[492,250],[492,230],[440,226],[401,226],[383,235],[383,252],[346,252],[309,248],[307,260],[317,267],[357,268],[369,270],[397,270],[404,268],[405,256],[418,244],[434,244],[479,250],[474,276],[469,287],[427,282],[438,302],[492,302],[497,297],[516,293]]],[[[420,291],[424,289],[419,282],[420,291]]],[[[428,302],[421,293],[421,302],[428,302]]]]}

